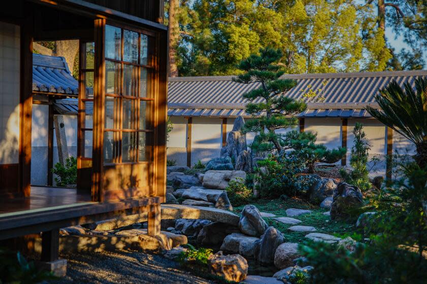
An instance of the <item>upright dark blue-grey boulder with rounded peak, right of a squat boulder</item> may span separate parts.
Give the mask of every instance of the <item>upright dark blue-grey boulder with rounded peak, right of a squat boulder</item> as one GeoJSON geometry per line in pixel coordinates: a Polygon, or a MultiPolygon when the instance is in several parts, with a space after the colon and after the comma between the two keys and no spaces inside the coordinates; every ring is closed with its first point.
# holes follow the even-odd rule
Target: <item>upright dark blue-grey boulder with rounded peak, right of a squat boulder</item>
{"type": "Polygon", "coordinates": [[[275,261],[276,249],[285,241],[283,234],[275,227],[268,227],[255,246],[254,257],[261,265],[275,261]]]}

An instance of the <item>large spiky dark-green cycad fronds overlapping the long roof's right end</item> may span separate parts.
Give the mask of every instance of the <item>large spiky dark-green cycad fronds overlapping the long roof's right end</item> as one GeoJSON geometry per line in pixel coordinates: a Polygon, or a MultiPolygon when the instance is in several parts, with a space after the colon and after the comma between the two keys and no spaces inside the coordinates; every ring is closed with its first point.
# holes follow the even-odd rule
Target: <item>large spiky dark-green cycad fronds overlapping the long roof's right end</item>
{"type": "Polygon", "coordinates": [[[392,81],[380,90],[375,100],[381,110],[367,111],[386,126],[411,140],[416,147],[414,159],[420,168],[427,167],[427,79],[415,80],[415,89],[408,82],[399,86],[392,81]]]}

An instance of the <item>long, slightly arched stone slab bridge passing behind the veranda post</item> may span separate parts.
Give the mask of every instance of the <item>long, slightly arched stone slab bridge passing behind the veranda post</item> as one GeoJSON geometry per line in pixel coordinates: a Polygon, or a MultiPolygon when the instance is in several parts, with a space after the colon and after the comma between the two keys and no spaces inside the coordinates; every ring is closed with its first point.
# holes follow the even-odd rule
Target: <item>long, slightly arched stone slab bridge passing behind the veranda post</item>
{"type": "MultiPolygon", "coordinates": [[[[204,219],[233,226],[239,224],[239,217],[237,215],[218,208],[180,204],[162,204],[160,207],[161,219],[204,219]]],[[[112,230],[146,221],[148,221],[148,214],[146,212],[129,216],[120,216],[117,219],[97,222],[93,230],[112,230]]]]}

